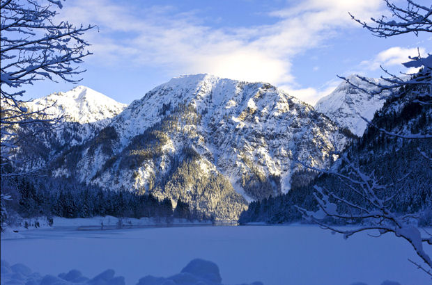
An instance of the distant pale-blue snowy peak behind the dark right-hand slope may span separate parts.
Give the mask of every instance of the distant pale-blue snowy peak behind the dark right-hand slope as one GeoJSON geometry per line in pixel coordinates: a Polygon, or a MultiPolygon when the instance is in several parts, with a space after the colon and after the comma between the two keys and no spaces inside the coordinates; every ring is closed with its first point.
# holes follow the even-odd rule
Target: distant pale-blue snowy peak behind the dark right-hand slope
{"type": "MultiPolygon", "coordinates": [[[[357,75],[351,75],[348,80],[355,86],[367,91],[377,91],[378,87],[362,81],[357,75]]],[[[383,83],[382,79],[368,79],[373,83],[383,83]]],[[[356,136],[362,136],[367,128],[367,120],[372,120],[373,114],[378,111],[385,102],[385,94],[370,95],[350,83],[343,81],[330,95],[321,98],[315,105],[315,109],[341,127],[349,129],[356,136]]]]}

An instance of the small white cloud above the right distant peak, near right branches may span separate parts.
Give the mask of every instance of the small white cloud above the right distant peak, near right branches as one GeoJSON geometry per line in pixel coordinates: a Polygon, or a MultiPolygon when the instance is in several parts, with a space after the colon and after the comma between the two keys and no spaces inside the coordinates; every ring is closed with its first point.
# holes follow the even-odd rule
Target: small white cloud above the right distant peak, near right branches
{"type": "MultiPolygon", "coordinates": [[[[424,48],[412,48],[407,49],[404,47],[391,47],[389,49],[385,49],[377,54],[371,60],[364,60],[360,63],[360,66],[365,70],[378,70],[380,65],[384,68],[397,66],[399,69],[402,69],[402,63],[406,63],[409,61],[409,56],[417,56],[418,53],[426,54],[426,50],[424,48]]],[[[415,69],[410,69],[408,72],[415,72],[415,69]]]]}

